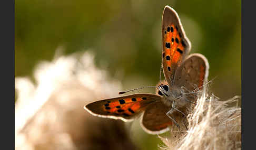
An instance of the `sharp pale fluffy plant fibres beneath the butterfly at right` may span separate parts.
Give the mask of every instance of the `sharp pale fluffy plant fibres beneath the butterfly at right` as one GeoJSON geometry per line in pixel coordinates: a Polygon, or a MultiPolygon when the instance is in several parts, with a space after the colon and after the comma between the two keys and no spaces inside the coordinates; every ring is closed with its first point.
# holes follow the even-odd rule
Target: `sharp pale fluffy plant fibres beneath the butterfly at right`
{"type": "Polygon", "coordinates": [[[188,131],[173,129],[171,136],[159,136],[165,144],[160,149],[241,149],[241,108],[229,106],[239,99],[219,101],[203,91],[188,115],[188,131]]]}

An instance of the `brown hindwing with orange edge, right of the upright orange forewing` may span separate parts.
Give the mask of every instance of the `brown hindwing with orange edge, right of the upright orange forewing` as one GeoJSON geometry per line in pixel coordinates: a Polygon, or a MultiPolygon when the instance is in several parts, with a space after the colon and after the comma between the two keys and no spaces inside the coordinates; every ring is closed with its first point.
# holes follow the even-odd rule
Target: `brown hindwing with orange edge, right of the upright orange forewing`
{"type": "Polygon", "coordinates": [[[196,92],[207,82],[208,70],[208,60],[200,53],[193,53],[176,71],[175,85],[184,87],[186,93],[196,92]]]}

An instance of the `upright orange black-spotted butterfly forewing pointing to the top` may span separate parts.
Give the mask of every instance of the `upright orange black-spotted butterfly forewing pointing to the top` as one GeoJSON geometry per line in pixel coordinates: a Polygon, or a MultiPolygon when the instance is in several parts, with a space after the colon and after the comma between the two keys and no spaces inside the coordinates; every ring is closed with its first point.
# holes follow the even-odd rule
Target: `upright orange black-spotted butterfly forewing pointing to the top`
{"type": "Polygon", "coordinates": [[[176,69],[188,55],[191,48],[178,14],[165,6],[162,17],[162,67],[164,77],[170,85],[176,69]]]}

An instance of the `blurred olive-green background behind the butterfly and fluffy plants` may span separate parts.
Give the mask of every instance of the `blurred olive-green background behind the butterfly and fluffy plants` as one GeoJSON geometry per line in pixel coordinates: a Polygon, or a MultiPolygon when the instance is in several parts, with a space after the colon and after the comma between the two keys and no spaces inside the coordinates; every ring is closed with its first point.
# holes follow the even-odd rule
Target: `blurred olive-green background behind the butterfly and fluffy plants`
{"type": "MultiPolygon", "coordinates": [[[[96,66],[122,81],[124,89],[155,85],[161,63],[165,5],[178,12],[191,53],[209,60],[211,91],[225,100],[241,94],[241,1],[15,1],[15,77],[33,78],[38,61],[91,50],[96,66]]],[[[163,79],[163,78],[162,78],[163,79]]],[[[116,91],[118,92],[118,91],[116,91]]],[[[152,89],[140,92],[154,92],[152,89]]],[[[142,132],[143,133],[143,132],[142,132]]],[[[135,138],[136,139],[136,138],[135,138]]],[[[160,140],[143,134],[142,149],[160,140]]]]}

